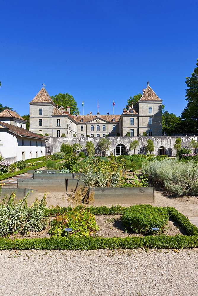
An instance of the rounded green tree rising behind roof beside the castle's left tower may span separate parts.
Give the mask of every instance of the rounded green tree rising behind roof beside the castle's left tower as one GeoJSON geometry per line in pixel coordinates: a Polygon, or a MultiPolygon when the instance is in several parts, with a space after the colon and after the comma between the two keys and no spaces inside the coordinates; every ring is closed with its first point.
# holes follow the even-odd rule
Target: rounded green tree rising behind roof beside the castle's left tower
{"type": "Polygon", "coordinates": [[[74,100],[74,97],[71,94],[65,93],[65,94],[56,94],[55,96],[51,96],[54,103],[60,108],[61,105],[66,108],[70,106],[71,108],[71,115],[76,115],[76,113],[79,113],[79,109],[77,107],[77,103],[74,100]]]}

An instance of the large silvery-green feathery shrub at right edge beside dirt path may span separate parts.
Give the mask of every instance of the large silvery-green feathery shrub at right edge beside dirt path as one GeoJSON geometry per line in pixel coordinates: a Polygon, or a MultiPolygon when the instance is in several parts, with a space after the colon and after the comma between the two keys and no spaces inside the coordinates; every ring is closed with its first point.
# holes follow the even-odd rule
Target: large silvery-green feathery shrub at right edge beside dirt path
{"type": "Polygon", "coordinates": [[[170,158],[152,161],[147,164],[146,173],[174,194],[198,195],[198,164],[192,160],[186,163],[170,158]]]}

